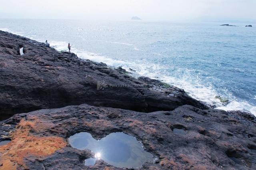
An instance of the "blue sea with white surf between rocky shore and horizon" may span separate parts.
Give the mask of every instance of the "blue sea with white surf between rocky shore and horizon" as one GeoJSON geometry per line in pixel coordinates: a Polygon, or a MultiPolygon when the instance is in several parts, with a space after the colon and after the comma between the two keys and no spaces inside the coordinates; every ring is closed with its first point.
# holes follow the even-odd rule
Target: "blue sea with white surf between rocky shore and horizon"
{"type": "Polygon", "coordinates": [[[82,59],[132,68],[136,77],[160,79],[218,109],[256,115],[256,29],[220,24],[6,19],[0,30],[58,50],[71,43],[82,59]]]}

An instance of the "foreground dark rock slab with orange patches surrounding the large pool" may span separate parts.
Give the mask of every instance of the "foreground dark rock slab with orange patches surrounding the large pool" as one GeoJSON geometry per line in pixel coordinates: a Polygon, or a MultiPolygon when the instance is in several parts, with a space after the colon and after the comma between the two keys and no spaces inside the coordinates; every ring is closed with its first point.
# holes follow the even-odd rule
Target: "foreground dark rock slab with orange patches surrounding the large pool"
{"type": "Polygon", "coordinates": [[[78,132],[96,139],[111,132],[135,136],[159,157],[141,169],[256,169],[255,117],[242,112],[185,105],[138,113],[84,104],[18,114],[0,125],[0,141],[12,140],[0,146],[2,169],[115,169],[102,160],[84,166],[92,153],[68,144],[78,132]]]}

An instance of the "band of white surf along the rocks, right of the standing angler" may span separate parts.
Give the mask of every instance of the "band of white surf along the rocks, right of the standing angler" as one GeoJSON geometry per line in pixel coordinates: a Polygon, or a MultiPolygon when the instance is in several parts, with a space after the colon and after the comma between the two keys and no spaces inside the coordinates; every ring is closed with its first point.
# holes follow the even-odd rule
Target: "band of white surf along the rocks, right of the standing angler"
{"type": "Polygon", "coordinates": [[[125,61],[121,59],[112,59],[100,54],[88,53],[85,51],[77,51],[78,57],[82,59],[90,59],[96,62],[103,62],[110,66],[118,67],[122,66],[124,69],[132,68],[136,70],[136,77],[138,76],[147,76],[150,78],[160,77],[160,80],[165,83],[169,83],[176,87],[184,89],[188,94],[194,99],[204,101],[210,105],[215,105],[217,109],[222,109],[225,111],[231,110],[240,110],[247,111],[256,115],[256,107],[250,105],[246,101],[236,101],[234,97],[230,94],[227,97],[230,100],[230,103],[226,106],[223,106],[219,99],[215,97],[220,95],[212,86],[202,85],[199,79],[194,80],[189,77],[176,78],[164,75],[161,70],[163,67],[158,64],[147,63],[142,60],[141,62],[136,61],[125,61]]]}

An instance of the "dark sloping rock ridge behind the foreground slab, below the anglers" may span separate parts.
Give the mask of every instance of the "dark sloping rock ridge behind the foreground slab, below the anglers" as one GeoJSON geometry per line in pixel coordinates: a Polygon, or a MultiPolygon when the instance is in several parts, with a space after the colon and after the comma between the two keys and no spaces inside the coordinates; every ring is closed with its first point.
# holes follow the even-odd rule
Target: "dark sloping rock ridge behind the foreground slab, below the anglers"
{"type": "Polygon", "coordinates": [[[178,88],[148,88],[125,71],[0,31],[0,120],[83,103],[140,112],[168,111],[186,104],[206,107],[178,88]]]}

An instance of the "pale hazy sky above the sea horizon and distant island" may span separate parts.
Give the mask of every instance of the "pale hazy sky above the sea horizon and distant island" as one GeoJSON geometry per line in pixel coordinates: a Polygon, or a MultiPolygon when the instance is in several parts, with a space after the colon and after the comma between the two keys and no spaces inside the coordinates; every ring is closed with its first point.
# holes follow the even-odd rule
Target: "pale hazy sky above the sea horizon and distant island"
{"type": "Polygon", "coordinates": [[[256,20],[256,0],[0,0],[0,18],[256,20]]]}

